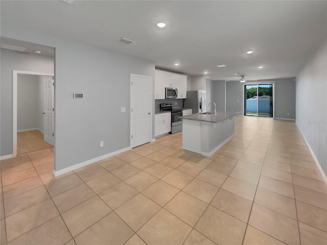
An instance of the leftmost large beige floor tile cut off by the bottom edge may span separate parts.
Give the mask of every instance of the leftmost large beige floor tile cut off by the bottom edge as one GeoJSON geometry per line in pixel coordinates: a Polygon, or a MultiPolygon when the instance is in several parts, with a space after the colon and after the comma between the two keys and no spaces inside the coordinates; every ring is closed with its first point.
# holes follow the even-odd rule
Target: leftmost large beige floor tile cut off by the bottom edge
{"type": "Polygon", "coordinates": [[[72,239],[62,218],[57,216],[35,229],[10,241],[8,245],[53,244],[61,245],[72,239]]]}

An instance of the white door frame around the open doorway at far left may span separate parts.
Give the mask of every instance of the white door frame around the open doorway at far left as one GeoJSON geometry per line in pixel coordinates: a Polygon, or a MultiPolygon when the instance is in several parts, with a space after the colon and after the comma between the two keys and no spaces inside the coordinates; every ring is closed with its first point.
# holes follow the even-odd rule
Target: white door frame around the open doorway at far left
{"type": "MultiPolygon", "coordinates": [[[[12,70],[12,144],[13,144],[12,150],[13,150],[13,157],[17,156],[17,80],[18,80],[18,75],[49,76],[49,77],[53,77],[53,78],[55,77],[55,75],[53,73],[44,73],[44,72],[27,71],[27,70],[12,70]]],[[[55,88],[54,88],[54,90],[55,90],[55,88]]],[[[55,94],[55,91],[54,91],[54,94],[55,94]]],[[[55,116],[54,116],[54,121],[55,121],[55,116]]],[[[55,145],[55,139],[54,139],[54,145],[55,145]]]]}

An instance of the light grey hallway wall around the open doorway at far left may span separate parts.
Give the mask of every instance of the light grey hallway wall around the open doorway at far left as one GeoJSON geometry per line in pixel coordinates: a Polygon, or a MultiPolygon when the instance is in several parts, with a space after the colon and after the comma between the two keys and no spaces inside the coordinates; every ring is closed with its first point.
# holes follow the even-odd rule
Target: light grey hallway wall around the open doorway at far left
{"type": "MultiPolygon", "coordinates": [[[[3,30],[2,30],[3,35],[3,30]]],[[[12,70],[54,73],[54,59],[41,55],[18,54],[1,48],[0,155],[13,153],[12,139],[12,70]]]]}

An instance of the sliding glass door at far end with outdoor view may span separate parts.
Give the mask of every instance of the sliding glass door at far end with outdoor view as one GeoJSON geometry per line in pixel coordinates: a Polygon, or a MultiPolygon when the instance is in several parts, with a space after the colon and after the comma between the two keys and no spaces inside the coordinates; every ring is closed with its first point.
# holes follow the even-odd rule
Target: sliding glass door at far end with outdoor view
{"type": "Polygon", "coordinates": [[[272,84],[244,85],[244,115],[272,117],[272,84]]]}

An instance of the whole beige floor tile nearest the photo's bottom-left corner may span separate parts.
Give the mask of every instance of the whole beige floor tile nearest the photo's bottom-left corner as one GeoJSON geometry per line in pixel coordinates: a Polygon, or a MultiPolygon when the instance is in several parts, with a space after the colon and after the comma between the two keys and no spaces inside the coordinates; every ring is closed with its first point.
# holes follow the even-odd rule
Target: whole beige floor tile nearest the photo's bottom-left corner
{"type": "Polygon", "coordinates": [[[8,241],[54,218],[59,213],[51,199],[6,218],[8,241]]]}

